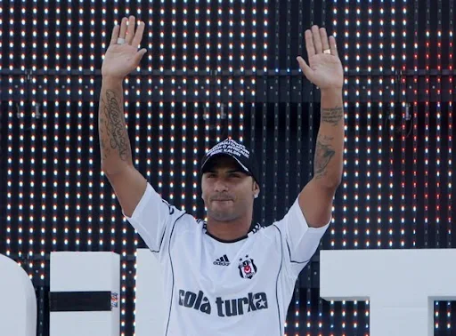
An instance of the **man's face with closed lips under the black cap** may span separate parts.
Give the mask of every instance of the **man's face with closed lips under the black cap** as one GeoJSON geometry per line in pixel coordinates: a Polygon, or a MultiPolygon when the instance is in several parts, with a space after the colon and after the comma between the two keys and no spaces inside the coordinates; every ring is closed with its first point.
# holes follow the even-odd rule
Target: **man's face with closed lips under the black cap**
{"type": "Polygon", "coordinates": [[[201,180],[202,198],[208,217],[231,221],[252,209],[254,196],[259,192],[253,178],[240,170],[230,156],[219,156],[209,162],[201,180]]]}

